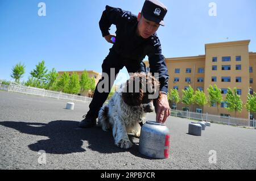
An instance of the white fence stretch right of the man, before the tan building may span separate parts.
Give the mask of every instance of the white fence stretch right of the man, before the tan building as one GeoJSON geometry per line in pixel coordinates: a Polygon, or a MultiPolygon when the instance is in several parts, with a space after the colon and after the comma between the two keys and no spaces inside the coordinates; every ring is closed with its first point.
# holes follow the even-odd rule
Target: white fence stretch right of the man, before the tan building
{"type": "Polygon", "coordinates": [[[196,112],[179,111],[179,110],[171,110],[171,116],[183,117],[186,119],[199,120],[199,121],[208,121],[211,123],[256,128],[256,120],[249,120],[249,119],[238,118],[238,117],[230,117],[230,116],[224,117],[224,116],[218,116],[218,115],[210,115],[208,113],[196,113],[196,112]]]}

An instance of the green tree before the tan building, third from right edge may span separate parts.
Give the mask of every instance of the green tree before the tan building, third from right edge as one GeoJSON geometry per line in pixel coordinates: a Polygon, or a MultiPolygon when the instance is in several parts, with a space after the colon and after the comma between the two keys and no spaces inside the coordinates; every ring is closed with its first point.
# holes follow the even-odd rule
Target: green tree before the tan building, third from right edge
{"type": "Polygon", "coordinates": [[[214,105],[216,105],[217,107],[217,112],[218,112],[218,107],[220,106],[223,98],[221,95],[221,89],[218,89],[218,87],[216,85],[212,86],[210,85],[210,87],[207,89],[208,93],[209,93],[209,104],[210,107],[213,107],[214,105]]]}

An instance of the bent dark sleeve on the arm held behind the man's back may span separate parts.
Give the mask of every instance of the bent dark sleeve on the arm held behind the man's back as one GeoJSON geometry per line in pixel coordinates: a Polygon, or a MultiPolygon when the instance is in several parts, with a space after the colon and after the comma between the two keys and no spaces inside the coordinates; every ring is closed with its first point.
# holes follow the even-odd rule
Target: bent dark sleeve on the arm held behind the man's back
{"type": "Polygon", "coordinates": [[[109,28],[112,24],[117,26],[120,21],[122,15],[125,13],[122,9],[106,6],[106,9],[102,12],[102,16],[100,19],[100,29],[102,33],[102,37],[109,35],[109,28]]]}

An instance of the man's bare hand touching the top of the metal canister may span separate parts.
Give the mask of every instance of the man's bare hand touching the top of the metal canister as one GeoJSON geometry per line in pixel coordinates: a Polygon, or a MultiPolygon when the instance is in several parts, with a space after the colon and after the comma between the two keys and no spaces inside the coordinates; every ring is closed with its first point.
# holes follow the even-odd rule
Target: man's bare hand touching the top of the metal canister
{"type": "Polygon", "coordinates": [[[156,100],[156,122],[165,123],[170,116],[170,106],[167,95],[160,92],[160,100],[156,100]]]}

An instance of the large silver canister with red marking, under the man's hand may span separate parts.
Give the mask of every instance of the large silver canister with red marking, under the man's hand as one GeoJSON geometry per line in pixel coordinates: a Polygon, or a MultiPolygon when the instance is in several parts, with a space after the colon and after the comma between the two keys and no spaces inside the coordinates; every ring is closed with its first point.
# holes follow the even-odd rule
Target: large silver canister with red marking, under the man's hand
{"type": "Polygon", "coordinates": [[[147,121],[141,128],[139,152],[147,157],[168,158],[170,152],[170,132],[166,124],[147,121]]]}

